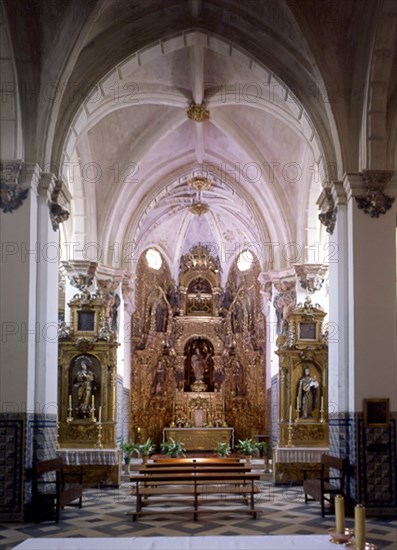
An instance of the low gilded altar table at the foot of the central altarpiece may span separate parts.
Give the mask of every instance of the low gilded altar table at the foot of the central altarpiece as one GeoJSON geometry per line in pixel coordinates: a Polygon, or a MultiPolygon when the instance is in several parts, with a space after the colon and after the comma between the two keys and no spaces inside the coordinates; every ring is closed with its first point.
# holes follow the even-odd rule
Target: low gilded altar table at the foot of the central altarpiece
{"type": "Polygon", "coordinates": [[[164,428],[163,441],[182,441],[187,451],[213,451],[218,443],[234,447],[234,428],[164,428]]]}

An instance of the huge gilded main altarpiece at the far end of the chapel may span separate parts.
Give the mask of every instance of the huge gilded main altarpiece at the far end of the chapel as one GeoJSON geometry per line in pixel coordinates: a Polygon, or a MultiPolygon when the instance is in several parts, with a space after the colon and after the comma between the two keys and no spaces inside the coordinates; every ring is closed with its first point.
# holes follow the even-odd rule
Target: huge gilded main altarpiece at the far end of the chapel
{"type": "Polygon", "coordinates": [[[199,438],[196,448],[205,449],[213,445],[208,430],[214,428],[231,442],[266,433],[259,266],[244,277],[234,267],[221,288],[218,258],[197,246],[181,258],[178,285],[166,266],[159,271],[150,270],[144,256],[139,260],[131,439],[151,437],[158,444],[164,433],[184,430],[187,437],[190,429],[189,448],[199,438]]]}

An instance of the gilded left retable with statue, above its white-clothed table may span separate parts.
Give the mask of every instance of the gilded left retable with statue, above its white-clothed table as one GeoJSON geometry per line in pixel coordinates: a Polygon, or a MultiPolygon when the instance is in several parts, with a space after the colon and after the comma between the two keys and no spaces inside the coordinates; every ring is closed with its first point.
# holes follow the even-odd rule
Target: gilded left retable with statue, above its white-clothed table
{"type": "Polygon", "coordinates": [[[91,276],[73,280],[83,298],[77,294],[69,302],[70,331],[59,341],[59,446],[114,449],[118,343],[113,332],[103,337],[107,300],[88,292],[91,276]]]}

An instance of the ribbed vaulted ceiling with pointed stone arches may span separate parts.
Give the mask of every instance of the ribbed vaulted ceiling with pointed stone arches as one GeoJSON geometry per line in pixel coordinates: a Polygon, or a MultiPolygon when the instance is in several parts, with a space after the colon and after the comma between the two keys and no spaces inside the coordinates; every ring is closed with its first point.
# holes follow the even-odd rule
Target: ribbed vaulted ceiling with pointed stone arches
{"type": "Polygon", "coordinates": [[[64,239],[97,241],[104,264],[131,271],[155,246],[176,274],[198,242],[226,272],[247,243],[262,268],[285,267],[291,242],[306,259],[322,185],[358,169],[380,2],[53,0],[36,17],[5,4],[21,78],[41,89],[22,97],[41,113],[26,157],[58,166],[73,196],[64,239]]]}

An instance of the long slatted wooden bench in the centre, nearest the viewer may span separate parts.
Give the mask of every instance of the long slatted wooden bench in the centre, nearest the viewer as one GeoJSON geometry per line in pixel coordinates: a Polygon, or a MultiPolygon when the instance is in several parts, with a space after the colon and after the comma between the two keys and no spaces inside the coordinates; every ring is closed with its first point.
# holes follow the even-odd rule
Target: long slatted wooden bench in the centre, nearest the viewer
{"type": "MultiPolygon", "coordinates": [[[[165,471],[151,471],[150,474],[132,475],[131,482],[135,483],[136,506],[132,517],[135,521],[137,517],[145,513],[159,514],[158,510],[142,510],[144,506],[153,503],[167,504],[165,513],[172,513],[168,507],[170,502],[190,503],[190,507],[181,510],[179,507],[174,512],[192,512],[193,519],[197,520],[199,511],[214,512],[214,508],[201,505],[216,501],[240,501],[248,506],[246,511],[256,518],[254,496],[259,492],[255,481],[259,481],[260,474],[244,471],[230,471],[225,469],[221,472],[210,472],[207,469],[195,471],[183,471],[181,473],[166,473],[165,471]],[[164,500],[167,495],[176,495],[184,497],[183,499],[164,500]],[[149,498],[150,497],[150,498],[149,498]],[[192,497],[192,499],[186,499],[192,497]],[[199,505],[201,510],[199,509],[199,505]]],[[[227,512],[239,512],[242,508],[227,507],[227,512]]],[[[219,510],[217,510],[219,511],[219,510]]]]}

